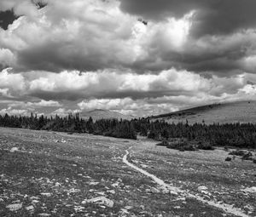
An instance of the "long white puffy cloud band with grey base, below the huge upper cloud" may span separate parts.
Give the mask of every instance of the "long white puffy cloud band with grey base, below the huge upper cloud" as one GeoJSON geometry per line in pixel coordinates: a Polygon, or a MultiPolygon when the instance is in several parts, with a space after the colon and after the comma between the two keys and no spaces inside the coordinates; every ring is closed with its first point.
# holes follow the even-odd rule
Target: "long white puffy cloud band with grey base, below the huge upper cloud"
{"type": "Polygon", "coordinates": [[[159,75],[138,75],[130,71],[79,71],[47,73],[27,83],[27,92],[44,100],[79,100],[81,98],[143,98],[211,89],[207,79],[189,71],[171,69],[159,75]],[[102,83],[104,85],[102,85],[102,83]]]}

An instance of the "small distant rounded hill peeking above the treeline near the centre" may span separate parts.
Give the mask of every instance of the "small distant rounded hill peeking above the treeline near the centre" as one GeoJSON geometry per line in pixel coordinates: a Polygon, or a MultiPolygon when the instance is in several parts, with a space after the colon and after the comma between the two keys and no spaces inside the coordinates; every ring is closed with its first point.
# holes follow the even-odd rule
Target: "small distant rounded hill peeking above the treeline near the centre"
{"type": "Polygon", "coordinates": [[[92,111],[83,111],[79,113],[80,117],[83,117],[84,119],[88,119],[89,117],[92,117],[93,120],[98,120],[98,119],[112,119],[112,118],[117,118],[117,119],[126,119],[126,120],[131,120],[131,118],[134,118],[130,115],[124,115],[121,114],[117,111],[109,111],[109,110],[103,110],[103,109],[95,109],[92,111]]]}

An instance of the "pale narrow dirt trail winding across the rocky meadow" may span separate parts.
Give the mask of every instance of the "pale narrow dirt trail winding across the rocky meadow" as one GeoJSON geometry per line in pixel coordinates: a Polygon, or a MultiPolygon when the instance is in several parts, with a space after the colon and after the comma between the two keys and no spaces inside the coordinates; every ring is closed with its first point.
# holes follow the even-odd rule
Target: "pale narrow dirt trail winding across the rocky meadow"
{"type": "MultiPolygon", "coordinates": [[[[131,147],[128,150],[130,150],[130,149],[131,149],[131,147]]],[[[207,203],[208,205],[210,205],[212,207],[220,208],[220,209],[222,209],[227,214],[234,214],[236,216],[241,216],[241,217],[250,217],[250,215],[247,215],[244,212],[242,212],[241,209],[234,208],[233,206],[231,206],[229,204],[218,203],[218,202],[215,202],[215,201],[206,200],[204,197],[193,195],[193,194],[189,193],[188,191],[183,191],[182,189],[180,189],[178,187],[166,184],[164,180],[161,180],[160,178],[156,177],[154,174],[149,174],[143,168],[138,168],[136,165],[130,163],[127,160],[127,157],[130,154],[130,152],[128,150],[125,151],[126,153],[125,153],[125,155],[123,157],[123,163],[125,163],[126,165],[128,165],[131,168],[136,169],[139,173],[144,174],[144,175],[148,176],[149,178],[151,178],[152,180],[154,180],[154,182],[160,186],[160,189],[162,191],[168,191],[171,194],[175,194],[175,195],[182,194],[183,197],[194,198],[197,201],[200,201],[201,203],[207,203]]]]}

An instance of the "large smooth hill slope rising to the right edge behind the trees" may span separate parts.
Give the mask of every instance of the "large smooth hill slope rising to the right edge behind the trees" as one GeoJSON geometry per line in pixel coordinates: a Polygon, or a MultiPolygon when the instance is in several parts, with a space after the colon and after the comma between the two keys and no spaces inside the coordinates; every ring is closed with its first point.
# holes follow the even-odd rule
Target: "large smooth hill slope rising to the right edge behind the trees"
{"type": "Polygon", "coordinates": [[[256,123],[256,101],[240,101],[197,106],[181,111],[150,117],[169,123],[256,123]]]}

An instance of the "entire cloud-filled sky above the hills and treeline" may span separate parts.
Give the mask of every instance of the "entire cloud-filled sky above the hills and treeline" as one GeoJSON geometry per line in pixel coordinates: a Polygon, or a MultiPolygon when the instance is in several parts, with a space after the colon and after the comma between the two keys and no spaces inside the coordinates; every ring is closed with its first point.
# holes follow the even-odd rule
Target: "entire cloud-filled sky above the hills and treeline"
{"type": "Polygon", "coordinates": [[[1,0],[0,114],[256,100],[255,0],[1,0]]]}

